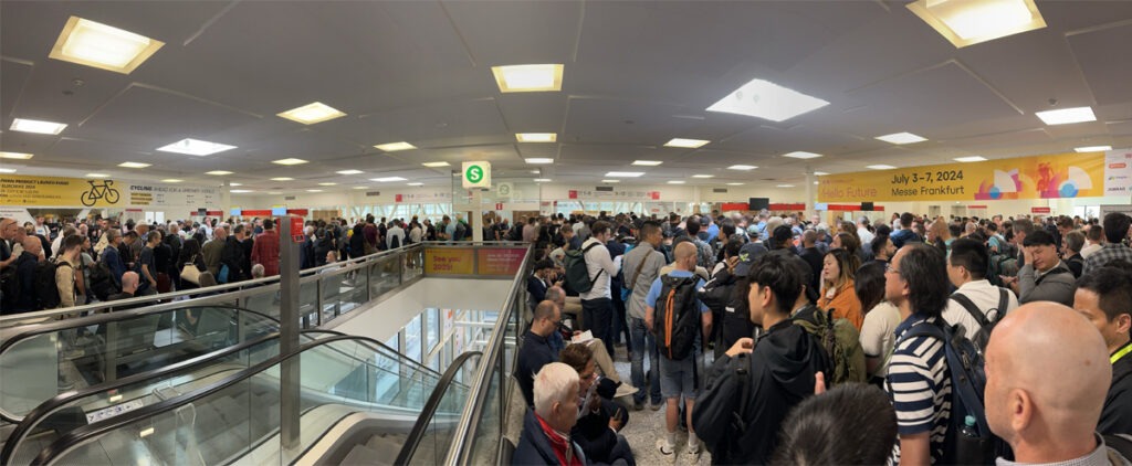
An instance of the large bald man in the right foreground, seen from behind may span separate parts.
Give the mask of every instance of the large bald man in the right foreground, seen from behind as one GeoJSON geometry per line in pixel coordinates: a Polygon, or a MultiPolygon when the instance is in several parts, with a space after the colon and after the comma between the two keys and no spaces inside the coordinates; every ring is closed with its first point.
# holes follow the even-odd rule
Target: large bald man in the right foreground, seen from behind
{"type": "MultiPolygon", "coordinates": [[[[1019,464],[1107,465],[1096,433],[1112,364],[1100,333],[1072,309],[1028,303],[995,326],[986,351],[987,423],[1019,464]]],[[[1014,463],[1000,458],[998,465],[1014,463]]],[[[1127,464],[1114,463],[1114,464],[1127,464]]]]}

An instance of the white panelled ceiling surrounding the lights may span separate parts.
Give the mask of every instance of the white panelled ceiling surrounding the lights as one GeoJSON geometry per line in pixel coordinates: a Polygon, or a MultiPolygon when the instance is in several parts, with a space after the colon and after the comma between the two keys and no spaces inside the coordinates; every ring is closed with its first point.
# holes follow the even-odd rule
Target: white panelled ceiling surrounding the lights
{"type": "Polygon", "coordinates": [[[1048,27],[954,49],[902,1],[3,1],[0,149],[25,174],[222,180],[243,189],[341,189],[398,175],[451,183],[422,162],[487,159],[496,179],[580,185],[634,159],[626,183],[798,182],[807,165],[950,163],[1132,146],[1132,1],[1040,1],[1048,27]],[[70,16],[166,45],[125,76],[48,59],[70,16]],[[1124,45],[1121,45],[1124,44],[1124,45]],[[564,63],[560,93],[500,94],[490,67],[564,63]],[[830,105],[774,123],[707,113],[753,78],[830,105]],[[77,86],[80,80],[82,86],[77,86]],[[1050,105],[1050,101],[1056,105],[1050,105]],[[302,126],[276,113],[319,101],[349,115],[302,126]],[[1091,105],[1095,123],[1034,112],[1091,105]],[[59,136],[14,118],[68,123],[59,136]],[[875,136],[910,131],[927,143],[875,136]],[[558,132],[516,144],[515,132],[558,132]],[[207,157],[154,150],[182,138],[239,146],[207,157]],[[709,139],[697,150],[661,147],[709,139]],[[418,150],[383,153],[408,140],[418,150]],[[781,157],[794,150],[813,161],[781,157]],[[280,166],[299,157],[312,163],[280,166]],[[524,157],[554,157],[532,166],[524,157]],[[147,162],[130,170],[121,162],[147,162]],[[726,170],[758,165],[754,172],[726,170]],[[362,170],[360,175],[334,172],[362,170]],[[230,176],[204,172],[226,170],[230,176]],[[693,180],[692,174],[714,174],[693,180]],[[294,182],[269,178],[292,176],[294,182]]]}

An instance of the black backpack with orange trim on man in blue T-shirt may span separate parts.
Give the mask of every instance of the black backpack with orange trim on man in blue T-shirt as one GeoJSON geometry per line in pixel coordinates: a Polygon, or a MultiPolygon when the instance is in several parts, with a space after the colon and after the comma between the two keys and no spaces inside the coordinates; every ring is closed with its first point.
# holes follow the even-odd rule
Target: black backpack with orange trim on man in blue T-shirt
{"type": "Polygon", "coordinates": [[[696,283],[700,277],[660,277],[660,296],[657,299],[657,314],[653,335],[661,356],[671,361],[683,361],[695,351],[700,335],[700,309],[696,307],[696,283]]]}

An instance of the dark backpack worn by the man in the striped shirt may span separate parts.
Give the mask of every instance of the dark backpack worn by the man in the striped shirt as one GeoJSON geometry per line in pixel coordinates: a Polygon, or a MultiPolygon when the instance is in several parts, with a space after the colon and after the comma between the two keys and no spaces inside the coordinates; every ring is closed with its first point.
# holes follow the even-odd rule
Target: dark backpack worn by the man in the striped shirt
{"type": "MultiPolygon", "coordinates": [[[[943,342],[947,377],[951,378],[951,417],[944,438],[943,458],[937,464],[988,465],[995,458],[1005,456],[1010,446],[990,432],[983,404],[987,377],[983,368],[983,355],[971,340],[963,337],[959,326],[925,322],[914,326],[897,342],[926,336],[943,342]],[[966,418],[972,417],[975,425],[968,428],[966,418]],[[974,437],[960,433],[960,429],[971,431],[974,437]]],[[[889,392],[892,394],[891,381],[889,392]]]]}

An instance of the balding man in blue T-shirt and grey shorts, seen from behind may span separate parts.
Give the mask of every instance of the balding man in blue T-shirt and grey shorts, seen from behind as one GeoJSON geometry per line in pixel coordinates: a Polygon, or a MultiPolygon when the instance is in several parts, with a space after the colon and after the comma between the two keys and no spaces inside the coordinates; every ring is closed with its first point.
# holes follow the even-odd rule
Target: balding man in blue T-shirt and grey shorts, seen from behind
{"type": "Polygon", "coordinates": [[[687,356],[672,360],[669,357],[668,352],[660,352],[660,394],[667,399],[664,421],[667,424],[666,428],[668,428],[668,435],[657,441],[662,455],[672,455],[676,452],[676,425],[679,422],[679,403],[681,396],[686,406],[688,424],[688,448],[686,451],[692,455],[698,455],[701,450],[700,440],[696,438],[695,430],[692,426],[692,408],[696,397],[700,396],[698,376],[702,370],[697,368],[697,364],[700,364],[701,342],[705,342],[707,335],[711,335],[712,316],[711,309],[700,302],[700,299],[694,297],[696,290],[704,287],[705,284],[703,278],[695,275],[696,252],[696,245],[692,242],[684,241],[676,244],[676,248],[672,250],[672,256],[676,258],[676,268],[667,275],[658,277],[652,283],[652,287],[649,288],[649,294],[644,299],[645,326],[653,329],[653,333],[657,335],[658,346],[662,346],[660,342],[666,338],[666,335],[676,335],[677,326],[684,320],[679,319],[680,316],[686,312],[700,313],[700,319],[695,320],[698,322],[700,328],[693,329],[698,331],[695,334],[695,343],[692,345],[692,351],[688,352],[687,356]],[[686,293],[691,293],[692,299],[681,299],[686,293]],[[671,319],[658,325],[658,305],[667,307],[669,303],[672,303],[674,307],[681,305],[681,303],[691,305],[685,309],[664,309],[663,314],[671,313],[671,319]],[[666,329],[670,331],[666,331],[666,329]]]}

